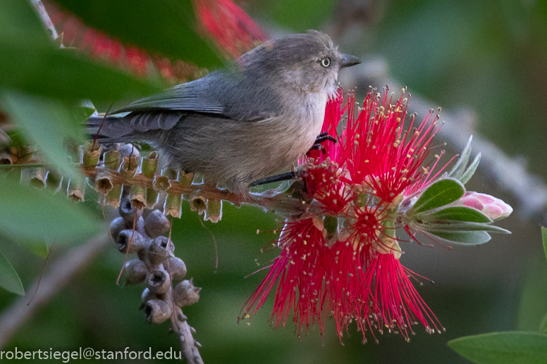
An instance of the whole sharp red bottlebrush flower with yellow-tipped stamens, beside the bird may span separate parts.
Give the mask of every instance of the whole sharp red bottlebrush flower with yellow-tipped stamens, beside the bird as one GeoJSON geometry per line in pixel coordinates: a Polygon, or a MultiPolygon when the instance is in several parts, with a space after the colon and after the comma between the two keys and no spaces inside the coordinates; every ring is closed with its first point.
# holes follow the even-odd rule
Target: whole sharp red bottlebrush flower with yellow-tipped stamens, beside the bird
{"type": "MultiPolygon", "coordinates": [[[[287,222],[278,239],[280,256],[243,312],[254,313],[277,282],[272,320],[278,327],[293,311],[297,332],[315,321],[321,333],[327,316],[338,335],[355,321],[366,332],[400,332],[406,339],[421,322],[427,332],[441,327],[399,261],[395,228],[406,189],[425,184],[422,173],[435,123],[431,113],[403,131],[407,98],[383,99],[370,90],[356,110],[355,94],[341,90],[326,106],[323,131],[338,139],[312,151],[302,168],[309,213],[287,222]],[[382,101],[383,100],[383,101],[382,101]],[[343,115],[348,123],[338,134],[343,115]],[[373,330],[374,329],[374,330],[373,330]]],[[[435,118],[436,119],[436,118],[435,118]]]]}

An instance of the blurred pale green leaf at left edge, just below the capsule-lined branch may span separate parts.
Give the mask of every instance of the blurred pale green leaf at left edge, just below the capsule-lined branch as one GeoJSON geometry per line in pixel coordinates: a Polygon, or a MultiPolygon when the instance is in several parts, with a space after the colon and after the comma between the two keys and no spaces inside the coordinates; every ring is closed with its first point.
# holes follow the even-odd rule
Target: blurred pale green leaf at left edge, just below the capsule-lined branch
{"type": "Polygon", "coordinates": [[[0,230],[19,240],[66,243],[104,229],[103,222],[79,204],[48,192],[0,178],[0,230]]]}

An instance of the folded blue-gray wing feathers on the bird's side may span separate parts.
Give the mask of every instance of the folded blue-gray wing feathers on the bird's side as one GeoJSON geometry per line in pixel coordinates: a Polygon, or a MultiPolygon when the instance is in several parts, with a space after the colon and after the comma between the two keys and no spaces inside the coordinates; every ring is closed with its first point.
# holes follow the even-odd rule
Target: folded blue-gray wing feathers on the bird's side
{"type": "Polygon", "coordinates": [[[114,113],[172,110],[222,114],[226,107],[211,93],[216,86],[214,82],[216,79],[210,73],[199,80],[178,84],[159,94],[137,100],[114,113]]]}

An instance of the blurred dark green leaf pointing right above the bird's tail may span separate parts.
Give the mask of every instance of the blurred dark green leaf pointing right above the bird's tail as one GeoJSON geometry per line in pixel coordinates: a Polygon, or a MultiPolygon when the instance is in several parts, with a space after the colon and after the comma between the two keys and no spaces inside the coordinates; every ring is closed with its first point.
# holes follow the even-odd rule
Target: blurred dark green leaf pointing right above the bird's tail
{"type": "Polygon", "coordinates": [[[113,102],[159,92],[159,84],[78,55],[72,49],[0,38],[0,87],[79,101],[113,102]]]}

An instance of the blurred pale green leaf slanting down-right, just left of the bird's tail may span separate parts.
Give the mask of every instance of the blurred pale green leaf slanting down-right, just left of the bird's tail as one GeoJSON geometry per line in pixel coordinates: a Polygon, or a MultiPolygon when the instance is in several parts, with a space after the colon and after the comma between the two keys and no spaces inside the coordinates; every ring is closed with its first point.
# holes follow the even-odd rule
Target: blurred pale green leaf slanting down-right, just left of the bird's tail
{"type": "Polygon", "coordinates": [[[56,170],[70,178],[82,178],[68,159],[67,142],[80,145],[84,140],[81,120],[73,108],[20,92],[1,92],[2,107],[56,170]]]}

